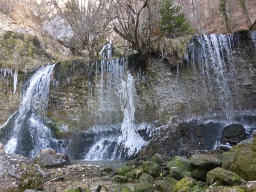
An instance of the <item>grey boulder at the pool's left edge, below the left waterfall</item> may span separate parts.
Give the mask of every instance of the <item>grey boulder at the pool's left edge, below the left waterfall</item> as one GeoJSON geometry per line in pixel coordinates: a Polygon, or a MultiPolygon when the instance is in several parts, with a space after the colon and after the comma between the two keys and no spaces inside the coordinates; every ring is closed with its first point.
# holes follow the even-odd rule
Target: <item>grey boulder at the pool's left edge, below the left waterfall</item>
{"type": "Polygon", "coordinates": [[[42,150],[35,158],[34,163],[41,168],[59,168],[71,164],[67,154],[57,153],[51,148],[42,150]]]}

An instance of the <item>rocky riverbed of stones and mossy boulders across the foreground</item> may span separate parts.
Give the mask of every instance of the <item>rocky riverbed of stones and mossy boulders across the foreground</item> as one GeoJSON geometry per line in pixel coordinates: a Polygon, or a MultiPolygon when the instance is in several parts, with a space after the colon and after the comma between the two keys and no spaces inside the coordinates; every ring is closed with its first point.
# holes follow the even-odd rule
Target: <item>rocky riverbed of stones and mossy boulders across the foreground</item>
{"type": "Polygon", "coordinates": [[[191,157],[138,156],[113,170],[104,165],[73,164],[52,149],[34,160],[0,153],[0,191],[255,191],[256,132],[250,139],[191,157]],[[47,157],[47,158],[46,158],[47,157]]]}

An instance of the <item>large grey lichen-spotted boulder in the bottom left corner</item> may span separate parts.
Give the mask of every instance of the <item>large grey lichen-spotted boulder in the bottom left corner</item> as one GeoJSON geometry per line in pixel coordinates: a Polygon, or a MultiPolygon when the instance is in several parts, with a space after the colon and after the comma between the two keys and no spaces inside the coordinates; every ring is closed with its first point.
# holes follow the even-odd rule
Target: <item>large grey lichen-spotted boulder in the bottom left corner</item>
{"type": "Polygon", "coordinates": [[[35,189],[43,182],[43,175],[27,157],[0,155],[0,191],[35,189]]]}

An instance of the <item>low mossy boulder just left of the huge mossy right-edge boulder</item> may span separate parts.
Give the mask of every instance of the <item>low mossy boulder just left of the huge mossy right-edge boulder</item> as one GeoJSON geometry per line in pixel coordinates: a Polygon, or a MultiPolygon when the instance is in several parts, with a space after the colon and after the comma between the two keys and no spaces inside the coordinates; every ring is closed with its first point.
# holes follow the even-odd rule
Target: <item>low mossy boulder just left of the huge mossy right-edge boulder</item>
{"type": "Polygon", "coordinates": [[[236,173],[222,168],[215,168],[207,173],[207,185],[212,185],[214,182],[218,182],[220,185],[236,186],[242,185],[245,180],[236,173]]]}

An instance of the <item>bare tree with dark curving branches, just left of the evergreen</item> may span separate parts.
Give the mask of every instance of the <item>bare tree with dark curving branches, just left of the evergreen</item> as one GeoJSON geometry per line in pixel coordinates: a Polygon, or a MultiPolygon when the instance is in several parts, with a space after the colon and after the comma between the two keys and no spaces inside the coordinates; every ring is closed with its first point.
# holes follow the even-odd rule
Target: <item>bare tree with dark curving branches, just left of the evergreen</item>
{"type": "Polygon", "coordinates": [[[113,9],[109,18],[112,19],[113,30],[129,41],[130,47],[141,55],[150,52],[152,44],[155,43],[159,2],[161,1],[112,1],[113,9]]]}

